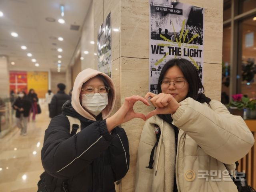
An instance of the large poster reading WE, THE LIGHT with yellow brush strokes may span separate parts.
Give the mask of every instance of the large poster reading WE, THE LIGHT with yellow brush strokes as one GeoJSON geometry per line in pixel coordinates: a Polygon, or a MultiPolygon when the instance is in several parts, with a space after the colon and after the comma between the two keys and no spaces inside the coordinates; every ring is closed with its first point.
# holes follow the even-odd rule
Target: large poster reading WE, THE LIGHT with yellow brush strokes
{"type": "Polygon", "coordinates": [[[149,0],[149,91],[157,84],[164,64],[185,58],[196,66],[202,80],[204,8],[170,0],[149,0]]]}

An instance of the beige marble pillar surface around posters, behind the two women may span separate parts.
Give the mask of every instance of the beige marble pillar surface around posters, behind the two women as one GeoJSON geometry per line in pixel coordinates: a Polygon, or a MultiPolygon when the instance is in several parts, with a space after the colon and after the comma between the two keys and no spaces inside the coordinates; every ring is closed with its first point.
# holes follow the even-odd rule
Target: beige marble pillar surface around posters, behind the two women
{"type": "MultiPolygon", "coordinates": [[[[222,17],[221,0],[180,0],[179,2],[205,8],[204,10],[204,66],[203,84],[205,93],[220,100],[222,70],[222,17]]],[[[109,12],[112,26],[112,79],[117,88],[114,111],[131,95],[144,96],[149,82],[149,2],[148,0],[94,0],[94,41],[97,42],[98,28],[109,12]],[[114,28],[120,28],[115,33],[114,28]]],[[[94,51],[96,51],[94,46],[94,51]]],[[[97,63],[97,60],[95,60],[97,63]]],[[[136,112],[144,114],[152,106],[138,103],[136,112]]],[[[136,152],[144,121],[134,119],[122,124],[130,146],[130,169],[122,179],[120,191],[133,192],[135,181],[136,152]]]]}

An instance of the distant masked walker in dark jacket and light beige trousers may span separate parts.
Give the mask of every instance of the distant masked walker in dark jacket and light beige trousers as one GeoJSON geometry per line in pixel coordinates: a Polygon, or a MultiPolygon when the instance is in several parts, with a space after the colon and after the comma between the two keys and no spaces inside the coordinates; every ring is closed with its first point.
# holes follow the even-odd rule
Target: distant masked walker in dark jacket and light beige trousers
{"type": "Polygon", "coordinates": [[[27,134],[28,115],[31,105],[24,91],[18,92],[18,98],[12,105],[14,110],[16,110],[16,125],[20,129],[20,135],[23,136],[27,134]]]}

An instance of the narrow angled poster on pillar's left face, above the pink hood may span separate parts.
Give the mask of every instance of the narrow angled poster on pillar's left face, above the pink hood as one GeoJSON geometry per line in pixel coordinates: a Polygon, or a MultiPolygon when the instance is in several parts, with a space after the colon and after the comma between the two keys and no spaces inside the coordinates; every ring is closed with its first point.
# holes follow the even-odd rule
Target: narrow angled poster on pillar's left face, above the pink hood
{"type": "Polygon", "coordinates": [[[110,13],[100,26],[97,40],[98,71],[111,77],[111,25],[110,13]]]}

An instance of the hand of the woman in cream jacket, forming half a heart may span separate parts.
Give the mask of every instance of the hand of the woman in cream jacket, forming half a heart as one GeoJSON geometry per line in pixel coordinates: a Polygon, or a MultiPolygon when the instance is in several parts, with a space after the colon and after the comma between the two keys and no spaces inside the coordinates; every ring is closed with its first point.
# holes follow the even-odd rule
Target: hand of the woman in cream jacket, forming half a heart
{"type": "Polygon", "coordinates": [[[146,115],[147,119],[157,114],[174,114],[180,106],[180,103],[171,94],[160,93],[156,95],[148,92],[144,98],[148,99],[149,97],[151,97],[150,102],[156,109],[146,115]]]}

